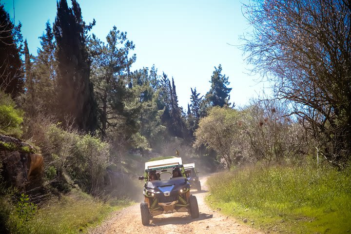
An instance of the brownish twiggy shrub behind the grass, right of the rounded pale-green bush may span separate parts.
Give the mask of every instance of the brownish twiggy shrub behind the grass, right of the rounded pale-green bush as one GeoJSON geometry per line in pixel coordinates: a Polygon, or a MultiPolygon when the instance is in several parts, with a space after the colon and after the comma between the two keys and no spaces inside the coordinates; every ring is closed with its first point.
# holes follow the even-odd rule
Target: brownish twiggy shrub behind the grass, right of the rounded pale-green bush
{"type": "Polygon", "coordinates": [[[252,100],[242,123],[248,136],[246,155],[269,163],[293,160],[309,152],[306,134],[279,100],[252,100]]]}

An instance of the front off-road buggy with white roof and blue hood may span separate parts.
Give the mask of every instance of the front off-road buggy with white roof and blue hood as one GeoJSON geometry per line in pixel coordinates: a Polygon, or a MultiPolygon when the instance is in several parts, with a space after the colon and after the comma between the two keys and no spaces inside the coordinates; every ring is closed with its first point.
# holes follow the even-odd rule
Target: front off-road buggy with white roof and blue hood
{"type": "Polygon", "coordinates": [[[188,212],[192,218],[199,216],[197,200],[190,194],[190,184],[185,176],[180,157],[145,163],[144,201],[140,203],[141,222],[150,223],[156,215],[188,212]]]}

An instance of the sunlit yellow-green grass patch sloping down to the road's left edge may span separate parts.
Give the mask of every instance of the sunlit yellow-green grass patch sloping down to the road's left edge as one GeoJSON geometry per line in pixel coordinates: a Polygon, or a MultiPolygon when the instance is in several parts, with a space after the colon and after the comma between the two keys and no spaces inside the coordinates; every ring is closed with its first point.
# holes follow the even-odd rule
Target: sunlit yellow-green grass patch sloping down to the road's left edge
{"type": "MultiPolygon", "coordinates": [[[[98,225],[109,213],[131,204],[128,200],[102,203],[90,195],[73,191],[60,199],[52,199],[38,209],[36,215],[17,227],[15,233],[77,234],[98,225]]],[[[16,221],[13,216],[12,221],[16,221]]]]}

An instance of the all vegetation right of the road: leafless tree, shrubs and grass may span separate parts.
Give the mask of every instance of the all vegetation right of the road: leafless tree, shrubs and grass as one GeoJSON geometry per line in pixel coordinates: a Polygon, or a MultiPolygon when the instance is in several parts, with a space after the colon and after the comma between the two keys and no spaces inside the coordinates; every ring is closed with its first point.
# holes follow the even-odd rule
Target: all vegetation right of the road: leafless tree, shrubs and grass
{"type": "Polygon", "coordinates": [[[195,144],[228,169],[208,180],[208,203],[267,232],[349,233],[350,5],[253,0],[243,9],[254,28],[244,53],[273,98],[200,119],[195,144]]]}

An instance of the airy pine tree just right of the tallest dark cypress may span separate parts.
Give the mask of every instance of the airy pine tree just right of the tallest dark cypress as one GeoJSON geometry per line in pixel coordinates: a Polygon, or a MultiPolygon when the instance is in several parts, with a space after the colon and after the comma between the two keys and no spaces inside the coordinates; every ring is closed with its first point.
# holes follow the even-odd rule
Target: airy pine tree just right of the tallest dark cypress
{"type": "Polygon", "coordinates": [[[90,51],[93,55],[92,79],[98,99],[99,130],[102,139],[107,137],[108,130],[112,131],[111,127],[117,127],[118,124],[132,124],[128,126],[131,132],[125,133],[126,136],[137,131],[136,122],[133,120],[137,110],[128,111],[125,106],[128,99],[133,96],[130,90],[134,84],[128,73],[129,67],[136,60],[136,55],[132,57],[128,55],[131,50],[134,50],[135,45],[133,41],[127,40],[127,33],[120,32],[116,26],[109,32],[106,41],[107,44],[95,35],[90,41],[90,51]],[[129,89],[126,88],[127,83],[129,83],[129,89]],[[120,117],[126,118],[126,121],[116,124],[116,119],[120,117]]]}

